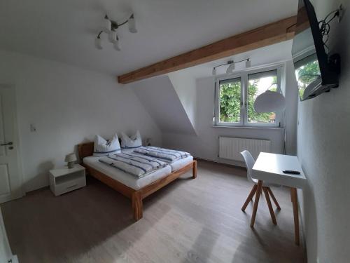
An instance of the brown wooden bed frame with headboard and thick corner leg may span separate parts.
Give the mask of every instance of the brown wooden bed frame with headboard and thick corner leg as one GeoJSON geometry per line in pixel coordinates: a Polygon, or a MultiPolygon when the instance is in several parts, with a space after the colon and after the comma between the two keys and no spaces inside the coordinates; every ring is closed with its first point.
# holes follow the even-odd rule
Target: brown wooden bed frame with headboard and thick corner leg
{"type": "Polygon", "coordinates": [[[162,187],[165,187],[167,184],[169,184],[169,182],[174,181],[176,178],[188,172],[188,170],[191,170],[191,169],[193,170],[193,175],[192,175],[193,179],[197,177],[197,161],[193,160],[188,165],[170,173],[166,177],[162,177],[156,180],[155,182],[152,182],[151,184],[146,185],[146,187],[143,187],[139,190],[135,190],[130,187],[127,187],[125,184],[122,184],[117,180],[114,180],[108,175],[105,175],[104,173],[101,173],[98,170],[84,164],[83,158],[87,156],[92,156],[93,151],[94,151],[94,142],[78,144],[78,153],[79,153],[81,165],[85,167],[86,172],[88,174],[92,175],[93,177],[100,180],[101,182],[104,182],[104,184],[107,184],[109,187],[115,189],[116,191],[120,192],[120,194],[123,194],[124,196],[132,200],[132,211],[134,213],[134,220],[136,221],[142,218],[142,213],[143,213],[142,201],[144,198],[146,198],[150,194],[153,194],[155,191],[161,189],[162,187]]]}

